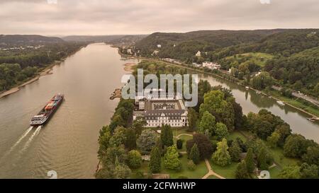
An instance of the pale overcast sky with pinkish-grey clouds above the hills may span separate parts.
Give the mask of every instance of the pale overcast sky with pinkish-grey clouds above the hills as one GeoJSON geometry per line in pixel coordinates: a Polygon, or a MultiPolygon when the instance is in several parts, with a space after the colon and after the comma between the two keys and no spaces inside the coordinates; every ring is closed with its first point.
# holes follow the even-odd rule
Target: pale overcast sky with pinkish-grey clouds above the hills
{"type": "Polygon", "coordinates": [[[319,1],[0,0],[0,34],[114,35],[266,28],[319,28],[319,1]]]}

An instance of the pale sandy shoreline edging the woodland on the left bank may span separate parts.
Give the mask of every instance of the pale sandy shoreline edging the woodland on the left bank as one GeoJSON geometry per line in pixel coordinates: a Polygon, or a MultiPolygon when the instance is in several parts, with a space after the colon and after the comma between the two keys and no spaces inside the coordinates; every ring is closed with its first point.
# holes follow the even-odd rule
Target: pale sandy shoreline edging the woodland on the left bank
{"type": "Polygon", "coordinates": [[[22,83],[21,85],[19,86],[15,86],[13,88],[11,88],[10,90],[6,90],[4,91],[4,93],[0,93],[0,98],[3,98],[7,95],[11,95],[13,93],[16,93],[18,92],[18,90],[20,90],[20,88],[22,88],[23,86],[26,86],[30,83],[33,83],[35,81],[38,81],[38,79],[41,77],[41,76],[46,76],[46,75],[50,75],[52,74],[52,68],[53,66],[57,65],[57,64],[60,64],[62,61],[56,61],[55,63],[53,64],[50,64],[50,66],[47,66],[45,69],[43,69],[43,71],[40,72],[40,74],[38,74],[37,76],[35,76],[34,78],[31,78],[30,80],[26,81],[25,83],[22,83]]]}

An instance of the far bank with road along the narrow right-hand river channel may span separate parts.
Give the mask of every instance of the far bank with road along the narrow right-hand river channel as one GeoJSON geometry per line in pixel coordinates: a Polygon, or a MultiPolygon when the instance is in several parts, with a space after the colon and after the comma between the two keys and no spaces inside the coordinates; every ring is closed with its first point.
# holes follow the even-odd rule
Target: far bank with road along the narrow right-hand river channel
{"type": "MultiPolygon", "coordinates": [[[[121,53],[120,53],[120,54],[121,54],[121,53]]],[[[190,68],[189,66],[185,66],[185,64],[173,64],[173,63],[165,62],[165,61],[162,61],[162,60],[159,60],[159,59],[152,59],[152,58],[147,58],[147,57],[128,56],[128,55],[125,55],[125,54],[121,54],[121,55],[123,55],[123,56],[125,56],[125,57],[134,57],[135,59],[142,59],[142,60],[147,60],[147,61],[152,61],[152,62],[162,62],[162,63],[164,63],[164,64],[171,65],[171,66],[179,66],[179,67],[184,68],[184,69],[189,69],[189,70],[192,70],[192,71],[198,71],[198,72],[200,72],[200,73],[202,73],[202,74],[208,74],[208,75],[211,75],[211,76],[215,76],[215,77],[218,77],[218,78],[222,78],[222,79],[224,79],[224,80],[226,80],[226,81],[230,81],[230,82],[232,82],[232,83],[236,83],[237,85],[242,86],[243,88],[246,87],[246,86],[243,85],[242,83],[238,83],[238,82],[236,82],[236,81],[231,81],[231,80],[229,80],[229,79],[227,79],[227,78],[225,78],[225,77],[223,77],[223,76],[220,76],[220,75],[218,75],[218,74],[214,74],[214,73],[211,73],[211,72],[203,71],[203,70],[201,70],[201,69],[193,69],[193,68],[190,68]]],[[[274,98],[274,100],[280,100],[280,98],[278,97],[278,95],[273,95],[272,93],[267,93],[267,94],[266,94],[266,93],[263,93],[262,90],[257,90],[257,89],[254,89],[254,88],[249,88],[249,89],[250,89],[250,90],[254,90],[255,92],[259,91],[259,92],[262,93],[262,95],[271,96],[272,98],[274,98]]],[[[282,99],[282,98],[281,98],[281,99],[282,99]]],[[[284,100],[283,102],[284,102],[286,105],[289,105],[290,107],[293,107],[294,109],[296,109],[296,110],[298,110],[298,111],[300,111],[300,112],[305,113],[305,114],[308,115],[309,117],[314,117],[314,118],[316,118],[316,119],[318,119],[318,117],[319,117],[319,115],[318,115],[317,113],[315,113],[315,111],[314,111],[314,112],[313,112],[313,111],[312,111],[312,112],[309,112],[309,111],[306,110],[306,108],[305,108],[305,109],[302,109],[301,107],[297,107],[296,104],[289,103],[289,101],[286,101],[286,100],[284,100]]],[[[296,103],[296,101],[295,101],[295,103],[296,103]]],[[[300,102],[298,102],[298,103],[300,103],[300,102]]],[[[300,106],[300,105],[299,105],[299,106],[300,106]]]]}

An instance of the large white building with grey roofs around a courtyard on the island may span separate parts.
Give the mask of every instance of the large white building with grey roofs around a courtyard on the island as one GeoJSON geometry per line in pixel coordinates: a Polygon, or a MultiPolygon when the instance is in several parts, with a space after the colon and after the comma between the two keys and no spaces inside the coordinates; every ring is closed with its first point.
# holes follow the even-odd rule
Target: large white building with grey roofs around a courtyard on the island
{"type": "Polygon", "coordinates": [[[161,95],[161,93],[135,97],[133,120],[144,117],[145,127],[186,127],[188,110],[178,95],[161,95]]]}

